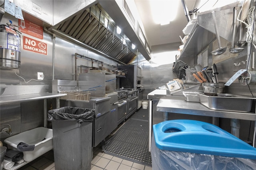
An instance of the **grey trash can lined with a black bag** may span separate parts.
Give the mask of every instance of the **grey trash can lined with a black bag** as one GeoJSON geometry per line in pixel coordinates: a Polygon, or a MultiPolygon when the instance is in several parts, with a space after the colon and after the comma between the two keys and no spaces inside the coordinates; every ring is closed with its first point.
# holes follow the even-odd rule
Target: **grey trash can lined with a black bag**
{"type": "Polygon", "coordinates": [[[90,170],[94,109],[61,107],[48,111],[56,170],[90,170]]]}

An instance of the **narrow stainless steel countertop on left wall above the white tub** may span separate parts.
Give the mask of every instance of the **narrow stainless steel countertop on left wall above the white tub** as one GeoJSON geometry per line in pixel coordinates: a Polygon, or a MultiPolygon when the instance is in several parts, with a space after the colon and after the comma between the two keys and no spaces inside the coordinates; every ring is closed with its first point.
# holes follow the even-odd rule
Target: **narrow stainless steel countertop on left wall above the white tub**
{"type": "Polygon", "coordinates": [[[17,102],[29,102],[32,100],[43,100],[49,98],[59,98],[66,96],[64,93],[38,93],[38,94],[22,94],[22,95],[11,95],[11,96],[1,96],[0,104],[10,104],[17,102]]]}

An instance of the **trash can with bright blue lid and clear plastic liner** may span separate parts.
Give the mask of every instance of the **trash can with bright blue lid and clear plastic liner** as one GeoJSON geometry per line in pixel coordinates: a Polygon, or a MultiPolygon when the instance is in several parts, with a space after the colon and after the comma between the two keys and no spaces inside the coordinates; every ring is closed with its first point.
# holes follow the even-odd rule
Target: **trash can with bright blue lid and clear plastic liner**
{"type": "Polygon", "coordinates": [[[256,149],[210,123],[170,120],[153,125],[153,170],[253,170],[256,149]]]}

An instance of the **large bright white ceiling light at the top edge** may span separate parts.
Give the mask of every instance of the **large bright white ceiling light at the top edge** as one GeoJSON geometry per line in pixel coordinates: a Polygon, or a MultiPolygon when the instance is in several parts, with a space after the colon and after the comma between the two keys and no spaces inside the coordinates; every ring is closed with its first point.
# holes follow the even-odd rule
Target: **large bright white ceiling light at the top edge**
{"type": "Polygon", "coordinates": [[[166,25],[176,18],[180,0],[151,0],[150,7],[156,24],[166,25]]]}

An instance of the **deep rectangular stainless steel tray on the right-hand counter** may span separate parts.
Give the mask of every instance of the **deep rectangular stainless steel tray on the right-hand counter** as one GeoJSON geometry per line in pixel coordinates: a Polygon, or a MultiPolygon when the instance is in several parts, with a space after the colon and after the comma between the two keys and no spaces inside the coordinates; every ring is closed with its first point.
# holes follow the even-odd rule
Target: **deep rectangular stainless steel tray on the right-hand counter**
{"type": "Polygon", "coordinates": [[[252,100],[233,94],[217,94],[217,96],[207,96],[200,93],[200,103],[209,109],[222,111],[249,112],[252,107],[252,100]]]}

